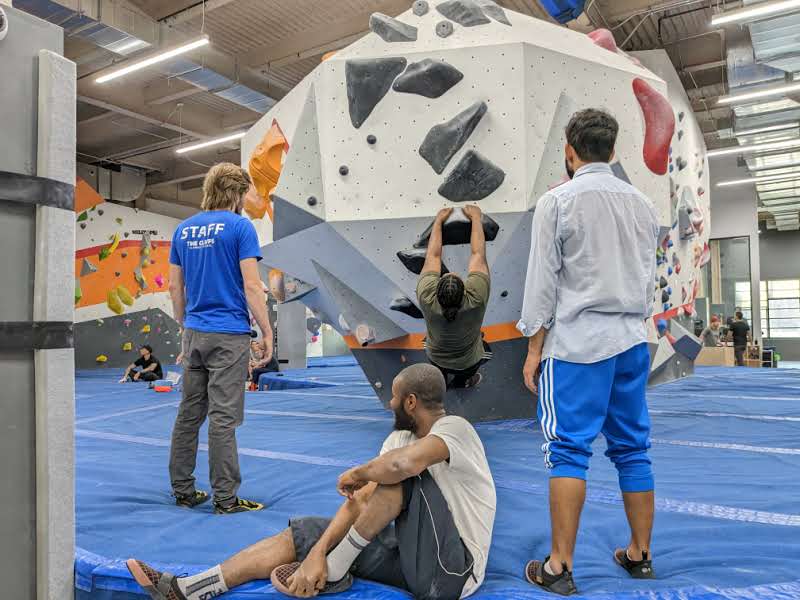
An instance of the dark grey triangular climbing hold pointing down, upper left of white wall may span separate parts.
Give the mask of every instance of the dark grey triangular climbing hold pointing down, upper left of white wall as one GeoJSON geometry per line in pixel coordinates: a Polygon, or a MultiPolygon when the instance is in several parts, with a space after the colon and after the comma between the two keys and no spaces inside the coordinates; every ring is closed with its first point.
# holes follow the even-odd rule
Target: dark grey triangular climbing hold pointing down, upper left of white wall
{"type": "Polygon", "coordinates": [[[348,60],[345,64],[350,121],[358,129],[406,68],[405,58],[348,60]]]}

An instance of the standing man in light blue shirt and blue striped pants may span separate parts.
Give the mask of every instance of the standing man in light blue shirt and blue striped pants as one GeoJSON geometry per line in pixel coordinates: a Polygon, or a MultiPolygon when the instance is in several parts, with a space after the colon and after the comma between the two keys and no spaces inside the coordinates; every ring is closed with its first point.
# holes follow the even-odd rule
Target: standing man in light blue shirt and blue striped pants
{"type": "Polygon", "coordinates": [[[591,446],[601,432],[631,526],[629,545],[614,559],[635,578],[653,577],[645,319],[653,306],[659,226],[652,202],[609,166],[618,129],[611,115],[592,109],[567,125],[572,181],[536,205],[517,324],[530,339],[523,374],[539,393],[551,473],[552,551],[528,563],[526,577],[564,595],[577,593],[572,557],[591,446]]]}

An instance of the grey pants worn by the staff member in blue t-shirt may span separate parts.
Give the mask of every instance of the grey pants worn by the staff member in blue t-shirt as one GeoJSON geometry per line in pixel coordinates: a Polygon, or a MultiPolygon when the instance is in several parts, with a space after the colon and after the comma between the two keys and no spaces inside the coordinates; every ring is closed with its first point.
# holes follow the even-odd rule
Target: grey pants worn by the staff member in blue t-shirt
{"type": "Polygon", "coordinates": [[[183,399],[169,457],[169,475],[176,496],[195,492],[194,469],[200,427],[208,416],[208,466],[214,502],[228,506],[236,499],[239,454],[236,428],[244,420],[244,386],[250,359],[250,336],[183,332],[183,399]]]}

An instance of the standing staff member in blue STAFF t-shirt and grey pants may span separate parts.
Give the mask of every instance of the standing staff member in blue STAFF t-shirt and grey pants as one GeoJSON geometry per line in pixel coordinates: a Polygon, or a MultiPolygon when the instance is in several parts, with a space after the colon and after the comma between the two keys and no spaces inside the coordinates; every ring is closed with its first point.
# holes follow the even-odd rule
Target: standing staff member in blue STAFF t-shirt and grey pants
{"type": "Polygon", "coordinates": [[[183,326],[183,399],[172,431],[169,472],[179,506],[208,500],[195,488],[198,432],[208,417],[208,462],[217,514],[261,510],[239,498],[236,428],[244,420],[244,382],[250,361],[250,312],[261,329],[266,358],[272,328],[258,273],[261,247],[241,216],[249,175],[231,163],[212,167],[203,182],[203,212],[175,230],[170,286],[175,319],[183,326]]]}

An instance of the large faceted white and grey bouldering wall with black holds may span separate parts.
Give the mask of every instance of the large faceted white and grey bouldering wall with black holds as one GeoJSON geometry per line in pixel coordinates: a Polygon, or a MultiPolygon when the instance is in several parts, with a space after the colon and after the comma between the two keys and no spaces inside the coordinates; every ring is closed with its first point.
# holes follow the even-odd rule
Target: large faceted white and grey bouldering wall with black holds
{"type": "MultiPolygon", "coordinates": [[[[582,108],[616,115],[614,171],[653,199],[668,231],[677,117],[664,80],[602,33],[491,0],[409,6],[396,19],[373,15],[371,33],[328,56],[245,137],[245,166],[276,130],[286,140],[270,226],[254,220],[264,267],[281,274],[280,301],[303,302],[345,337],[388,403],[394,375],[425,360],[415,288],[433,216],[478,203],[490,240],[484,335],[494,360],[479,389],[448,393],[448,408],[473,420],[531,416],[526,340],[515,324],[532,211],[565,177],[564,127],[582,108]]],[[[444,263],[462,273],[464,232],[455,211],[444,263]]]]}

